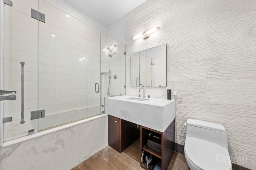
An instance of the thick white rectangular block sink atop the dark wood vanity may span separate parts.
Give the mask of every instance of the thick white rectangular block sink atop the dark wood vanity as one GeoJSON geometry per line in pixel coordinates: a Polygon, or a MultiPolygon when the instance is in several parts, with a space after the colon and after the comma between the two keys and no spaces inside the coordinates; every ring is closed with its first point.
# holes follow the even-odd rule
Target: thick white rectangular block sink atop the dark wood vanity
{"type": "Polygon", "coordinates": [[[176,117],[175,100],[114,96],[105,98],[108,115],[164,132],[176,117]]]}

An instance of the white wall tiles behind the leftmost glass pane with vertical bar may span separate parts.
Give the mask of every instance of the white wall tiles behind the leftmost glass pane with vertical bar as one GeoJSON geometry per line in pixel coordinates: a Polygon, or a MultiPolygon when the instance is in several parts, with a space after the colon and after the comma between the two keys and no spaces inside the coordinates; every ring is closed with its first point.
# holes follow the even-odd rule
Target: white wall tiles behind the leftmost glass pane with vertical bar
{"type": "MultiPolygon", "coordinates": [[[[12,116],[13,121],[20,121],[20,61],[24,66],[24,114],[37,107],[37,21],[31,20],[30,8],[37,10],[38,2],[32,0],[16,1],[15,7],[5,6],[5,51],[4,51],[4,89],[16,90],[17,99],[4,102],[4,117],[12,116]]],[[[5,137],[9,125],[4,125],[5,137]]],[[[28,131],[29,129],[27,129],[28,131]]]]}

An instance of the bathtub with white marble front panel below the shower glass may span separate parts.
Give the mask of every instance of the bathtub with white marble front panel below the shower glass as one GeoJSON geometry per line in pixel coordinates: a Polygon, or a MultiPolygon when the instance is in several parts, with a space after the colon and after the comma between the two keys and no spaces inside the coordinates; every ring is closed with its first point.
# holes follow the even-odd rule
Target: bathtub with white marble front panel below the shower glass
{"type": "MultiPolygon", "coordinates": [[[[70,112],[64,117],[68,115],[75,115],[77,118],[81,112],[70,112]]],[[[59,116],[55,120],[63,124],[59,121],[59,116]]],[[[40,128],[46,129],[50,126],[52,123],[48,122],[40,128]]],[[[106,146],[108,116],[96,115],[4,142],[0,149],[0,170],[70,170],[106,146]]]]}

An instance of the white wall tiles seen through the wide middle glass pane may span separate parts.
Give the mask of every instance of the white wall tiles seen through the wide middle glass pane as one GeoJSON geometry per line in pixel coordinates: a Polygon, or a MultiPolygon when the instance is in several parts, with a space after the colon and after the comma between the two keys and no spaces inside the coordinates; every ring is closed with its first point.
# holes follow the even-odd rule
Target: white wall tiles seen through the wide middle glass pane
{"type": "MultiPolygon", "coordinates": [[[[46,4],[44,2],[41,3],[46,4]]],[[[48,4],[46,4],[46,6],[47,5],[48,4]]],[[[39,58],[39,75],[40,72],[44,74],[41,74],[42,78],[39,76],[39,79],[42,80],[39,89],[48,89],[49,97],[44,95],[40,98],[39,103],[42,102],[42,104],[39,104],[39,107],[43,108],[46,106],[46,109],[50,109],[49,111],[46,111],[46,115],[52,115],[54,113],[54,108],[47,106],[56,105],[56,113],[86,108],[88,107],[86,104],[87,102],[90,102],[90,106],[98,106],[99,102],[97,102],[97,100],[99,101],[99,97],[97,99],[86,97],[95,94],[87,93],[87,82],[90,81],[90,77],[86,78],[86,75],[88,70],[94,71],[95,73],[91,75],[91,77],[97,78],[100,66],[97,67],[95,64],[94,66],[88,64],[86,62],[86,55],[88,44],[90,44],[90,47],[94,48],[94,50],[97,48],[98,50],[100,49],[100,39],[91,39],[93,42],[88,41],[88,33],[86,33],[88,26],[86,23],[83,23],[72,16],[67,17],[65,12],[57,9],[54,14],[54,12],[51,11],[51,17],[55,18],[56,30],[44,30],[44,27],[40,27],[40,29],[42,29],[42,37],[46,37],[44,35],[49,35],[48,38],[50,41],[56,44],[56,51],[54,50],[54,45],[51,45],[45,40],[40,41],[44,47],[42,49],[44,56],[39,56],[42,58],[42,60],[39,58]],[[54,39],[51,36],[53,32],[54,35],[56,35],[54,39]],[[48,52],[46,51],[45,53],[45,49],[53,49],[53,51],[51,52],[48,50],[48,52]],[[83,59],[80,61],[83,57],[85,60],[83,59]],[[96,74],[97,71],[98,74],[96,74]],[[47,76],[47,78],[44,76],[47,76]]],[[[47,26],[46,29],[49,29],[49,27],[47,26]]],[[[89,29],[93,30],[94,28],[90,27],[89,29]]],[[[95,37],[100,36],[100,31],[94,29],[91,32],[93,32],[92,35],[95,37]]],[[[99,58],[99,55],[94,57],[99,58]]],[[[90,84],[90,86],[94,88],[94,84],[93,86],[90,84]]]]}

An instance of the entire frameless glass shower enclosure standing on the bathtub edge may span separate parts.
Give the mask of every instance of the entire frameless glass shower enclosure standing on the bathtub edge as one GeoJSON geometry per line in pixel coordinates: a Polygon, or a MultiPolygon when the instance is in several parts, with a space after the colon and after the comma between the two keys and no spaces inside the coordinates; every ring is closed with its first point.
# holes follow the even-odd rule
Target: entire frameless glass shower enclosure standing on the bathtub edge
{"type": "Polygon", "coordinates": [[[4,6],[1,90],[16,96],[3,101],[4,141],[99,115],[104,97],[125,95],[125,45],[51,2],[4,6]]]}

